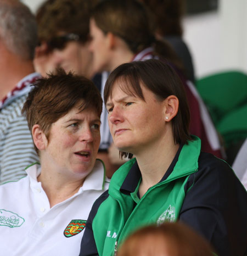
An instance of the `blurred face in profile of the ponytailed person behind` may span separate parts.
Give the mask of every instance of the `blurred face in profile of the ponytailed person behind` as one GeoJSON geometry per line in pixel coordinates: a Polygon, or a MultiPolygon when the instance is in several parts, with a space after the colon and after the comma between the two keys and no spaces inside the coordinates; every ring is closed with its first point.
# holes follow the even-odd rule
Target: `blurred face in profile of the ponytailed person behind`
{"type": "Polygon", "coordinates": [[[110,71],[109,42],[108,37],[96,25],[94,19],[90,20],[90,51],[93,53],[93,72],[110,71]]]}

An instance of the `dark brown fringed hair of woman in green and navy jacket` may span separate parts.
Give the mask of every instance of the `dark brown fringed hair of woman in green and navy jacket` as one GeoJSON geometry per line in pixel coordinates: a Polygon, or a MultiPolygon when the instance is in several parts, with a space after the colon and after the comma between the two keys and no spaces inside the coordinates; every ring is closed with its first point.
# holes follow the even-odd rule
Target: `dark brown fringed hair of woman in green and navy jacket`
{"type": "MultiPolygon", "coordinates": [[[[186,92],[176,71],[164,61],[149,59],[139,62],[125,63],[118,66],[108,77],[104,88],[104,102],[112,97],[116,81],[123,81],[121,90],[132,93],[144,99],[141,82],[157,99],[163,101],[170,95],[175,95],[179,101],[177,115],[172,119],[173,138],[176,143],[187,144],[189,136],[190,113],[186,92]]],[[[122,152],[122,156],[127,153],[122,152]]],[[[131,154],[129,155],[131,157],[131,154]]]]}

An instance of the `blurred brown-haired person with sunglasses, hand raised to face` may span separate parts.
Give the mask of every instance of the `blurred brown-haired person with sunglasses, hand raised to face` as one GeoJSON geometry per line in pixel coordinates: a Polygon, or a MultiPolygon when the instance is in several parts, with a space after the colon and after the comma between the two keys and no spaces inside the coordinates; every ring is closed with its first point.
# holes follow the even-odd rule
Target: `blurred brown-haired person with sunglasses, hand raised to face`
{"type": "MultiPolygon", "coordinates": [[[[72,71],[77,75],[92,78],[94,84],[102,93],[100,74],[92,77],[92,53],[88,46],[89,14],[99,0],[47,0],[36,13],[39,44],[36,47],[35,69],[46,76],[55,68],[63,68],[67,73],[72,71]]],[[[106,80],[108,74],[104,74],[106,80]]],[[[103,106],[102,125],[100,126],[101,141],[98,158],[102,159],[106,175],[110,178],[119,167],[110,163],[108,147],[112,143],[107,112],[103,106]]]]}

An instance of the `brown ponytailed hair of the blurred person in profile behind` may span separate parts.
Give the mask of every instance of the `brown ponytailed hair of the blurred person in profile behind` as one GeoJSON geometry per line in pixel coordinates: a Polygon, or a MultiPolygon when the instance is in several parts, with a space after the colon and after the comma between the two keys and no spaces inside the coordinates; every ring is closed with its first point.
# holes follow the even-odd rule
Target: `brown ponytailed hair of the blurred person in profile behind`
{"type": "Polygon", "coordinates": [[[170,44],[156,40],[151,15],[141,2],[105,0],[96,5],[91,17],[104,34],[111,32],[119,36],[134,54],[153,46],[154,55],[169,60],[183,71],[183,65],[170,44]]]}

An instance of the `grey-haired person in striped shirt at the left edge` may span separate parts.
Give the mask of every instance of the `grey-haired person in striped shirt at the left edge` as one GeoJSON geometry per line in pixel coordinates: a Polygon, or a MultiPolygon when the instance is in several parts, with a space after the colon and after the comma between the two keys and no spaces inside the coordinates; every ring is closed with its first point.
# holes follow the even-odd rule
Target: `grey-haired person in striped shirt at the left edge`
{"type": "Polygon", "coordinates": [[[40,77],[33,57],[35,16],[20,1],[0,0],[0,183],[26,175],[38,161],[26,118],[21,114],[30,85],[40,77]]]}

